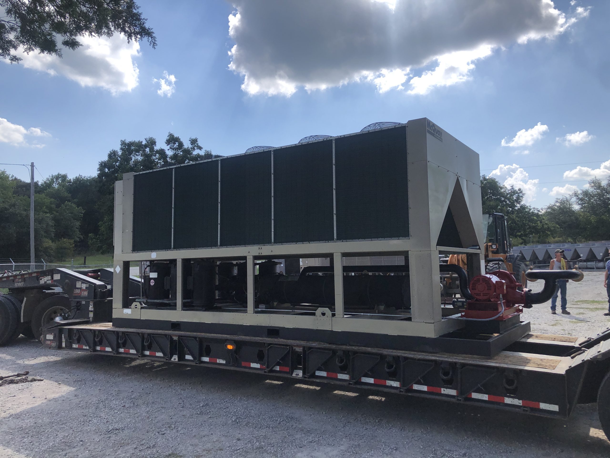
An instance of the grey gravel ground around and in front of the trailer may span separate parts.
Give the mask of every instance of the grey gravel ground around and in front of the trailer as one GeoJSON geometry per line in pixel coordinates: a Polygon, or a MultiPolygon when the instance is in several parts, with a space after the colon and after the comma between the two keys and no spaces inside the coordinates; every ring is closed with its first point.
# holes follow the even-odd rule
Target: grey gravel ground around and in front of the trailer
{"type": "MultiPolygon", "coordinates": [[[[572,316],[539,305],[524,318],[540,333],[586,335],[606,327],[601,275],[570,282],[572,316]]],[[[0,376],[21,371],[43,380],[0,387],[0,457],[610,456],[594,405],[577,407],[564,422],[217,368],[49,351],[24,337],[0,348],[0,376]]]]}

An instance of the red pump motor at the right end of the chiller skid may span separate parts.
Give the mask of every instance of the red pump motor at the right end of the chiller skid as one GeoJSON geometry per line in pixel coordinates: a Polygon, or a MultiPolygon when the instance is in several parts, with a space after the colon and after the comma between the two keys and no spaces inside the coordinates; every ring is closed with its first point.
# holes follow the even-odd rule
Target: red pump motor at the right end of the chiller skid
{"type": "Polygon", "coordinates": [[[469,319],[495,319],[504,321],[523,313],[525,293],[511,272],[495,271],[477,275],[470,281],[470,293],[475,300],[468,300],[462,317],[469,319]],[[504,309],[504,310],[503,310],[504,309]]]}

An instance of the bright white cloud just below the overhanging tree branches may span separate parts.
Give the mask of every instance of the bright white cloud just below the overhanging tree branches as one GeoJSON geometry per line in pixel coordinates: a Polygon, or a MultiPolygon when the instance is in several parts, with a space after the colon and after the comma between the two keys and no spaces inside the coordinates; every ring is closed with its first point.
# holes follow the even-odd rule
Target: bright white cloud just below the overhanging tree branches
{"type": "Polygon", "coordinates": [[[75,51],[64,49],[62,58],[18,53],[23,58],[21,64],[49,75],[63,75],[84,87],[102,87],[114,95],[129,92],[138,85],[138,67],[133,60],[140,54],[137,42],[127,43],[120,34],[78,40],[82,46],[75,51]]]}

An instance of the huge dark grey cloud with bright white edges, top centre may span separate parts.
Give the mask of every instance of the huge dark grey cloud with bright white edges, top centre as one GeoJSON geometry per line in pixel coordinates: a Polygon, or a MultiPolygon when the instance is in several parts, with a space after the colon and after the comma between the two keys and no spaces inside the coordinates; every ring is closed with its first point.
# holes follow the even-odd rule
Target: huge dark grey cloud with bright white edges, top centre
{"type": "Polygon", "coordinates": [[[232,0],[229,68],[249,94],[348,82],[423,94],[470,78],[495,49],[553,38],[588,14],[550,0],[232,0]],[[433,32],[431,32],[433,31],[433,32]],[[420,75],[414,72],[433,65],[420,75]],[[407,78],[408,77],[408,78],[407,78]],[[409,78],[411,80],[409,81],[409,78]]]}

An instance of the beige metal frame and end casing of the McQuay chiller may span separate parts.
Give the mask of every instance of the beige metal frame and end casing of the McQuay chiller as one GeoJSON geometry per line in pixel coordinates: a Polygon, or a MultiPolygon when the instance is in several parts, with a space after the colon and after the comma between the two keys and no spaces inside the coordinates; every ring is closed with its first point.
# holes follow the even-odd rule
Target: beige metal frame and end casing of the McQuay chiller
{"type": "Polygon", "coordinates": [[[463,326],[462,321],[443,319],[440,305],[439,253],[466,253],[481,273],[483,255],[479,249],[437,246],[447,209],[451,208],[462,245],[483,246],[481,187],[478,154],[427,118],[406,123],[408,136],[410,237],[391,240],[333,241],[306,244],[215,247],[159,252],[132,252],[134,174],[125,173],[115,185],[115,253],[113,318],[141,318],[298,327],[337,331],[435,337],[463,326]],[[343,256],[408,256],[411,280],[411,321],[392,321],[346,316],[343,311],[343,256]],[[284,257],[334,258],[335,312],[319,308],[315,316],[256,313],[254,310],[254,263],[284,257]],[[245,260],[247,264],[248,308],[242,313],[182,310],[182,263],[178,263],[176,310],[150,310],[137,302],[129,304],[126,291],[129,261],[245,260]]]}

